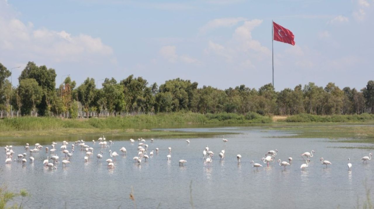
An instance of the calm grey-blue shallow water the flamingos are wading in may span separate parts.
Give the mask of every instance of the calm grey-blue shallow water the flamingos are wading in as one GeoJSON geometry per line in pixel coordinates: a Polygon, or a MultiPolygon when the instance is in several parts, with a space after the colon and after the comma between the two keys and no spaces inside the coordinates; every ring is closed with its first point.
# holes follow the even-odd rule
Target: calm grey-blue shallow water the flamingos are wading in
{"type": "MultiPolygon", "coordinates": [[[[22,167],[20,162],[4,164],[5,154],[0,155],[0,181],[5,182],[12,191],[25,188],[31,197],[27,198],[25,208],[134,208],[129,199],[131,187],[134,188],[137,208],[191,208],[191,196],[195,208],[354,208],[366,198],[364,181],[371,188],[374,180],[374,161],[362,164],[360,159],[368,156],[368,150],[341,149],[331,147],[329,139],[278,138],[292,134],[277,130],[265,130],[261,127],[218,127],[172,129],[183,131],[217,131],[239,133],[215,138],[155,139],[153,143],[146,139],[148,154],[156,147],[160,149],[148,162],[134,163],[137,156],[138,141],[131,144],[128,139],[106,136],[113,140],[110,148],[93,145],[92,139],[85,137],[86,144],[94,148],[93,156],[84,162],[84,151],[76,145],[71,163],[56,170],[43,167],[43,160],[49,154],[43,150],[33,153],[35,162],[22,167]],[[278,137],[277,137],[278,136],[278,137]],[[121,141],[122,139],[122,141],[121,141]],[[203,164],[202,151],[208,145],[215,154],[212,163],[203,164]],[[117,151],[126,147],[127,156],[117,156],[115,169],[107,168],[108,151],[117,151]],[[171,160],[166,159],[168,147],[172,148],[171,160]],[[261,163],[268,150],[278,149],[276,160],[294,159],[286,170],[276,162],[270,167],[261,163]],[[300,165],[305,163],[301,153],[315,150],[315,156],[305,171],[300,165]],[[101,162],[96,162],[96,154],[104,152],[101,162]],[[220,160],[218,153],[225,150],[225,159],[220,160]],[[241,163],[236,155],[241,154],[241,163]],[[319,158],[324,157],[332,165],[321,165],[319,158]],[[353,164],[348,171],[348,157],[353,164]],[[180,159],[187,160],[179,166],[180,159]],[[258,171],[250,164],[251,160],[261,163],[258,171]],[[366,180],[365,180],[366,179],[366,180]]],[[[78,138],[78,137],[76,137],[78,138]]],[[[70,138],[70,140],[77,140],[70,138]]],[[[58,150],[64,138],[51,138],[58,143],[58,150]]],[[[22,140],[24,141],[24,140],[22,140]]],[[[36,138],[30,138],[37,141],[36,138]]],[[[337,146],[362,146],[363,144],[336,143],[337,146]]],[[[10,144],[9,144],[10,145],[10,144]]],[[[42,144],[44,147],[49,144],[42,144]]],[[[33,147],[30,145],[30,147],[33,147]]],[[[50,146],[49,146],[50,147],[50,146]]],[[[71,143],[68,145],[71,150],[71,143]]],[[[25,152],[23,146],[13,145],[15,158],[25,152]]],[[[61,151],[56,152],[60,162],[64,158],[61,151]]],[[[155,152],[156,153],[156,152],[155,152]]],[[[27,152],[27,159],[30,157],[27,152]]],[[[50,155],[49,155],[50,156],[50,155]]],[[[112,158],[113,159],[113,158],[112,158]]],[[[373,196],[373,190],[371,190],[373,196]]]]}

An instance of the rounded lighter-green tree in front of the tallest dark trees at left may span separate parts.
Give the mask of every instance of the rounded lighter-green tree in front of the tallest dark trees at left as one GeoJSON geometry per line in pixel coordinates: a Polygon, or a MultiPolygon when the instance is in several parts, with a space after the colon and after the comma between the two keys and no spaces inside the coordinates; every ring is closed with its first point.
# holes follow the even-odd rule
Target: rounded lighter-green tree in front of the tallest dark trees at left
{"type": "Polygon", "coordinates": [[[35,79],[23,79],[19,83],[19,96],[22,98],[21,114],[29,114],[31,110],[37,112],[36,106],[40,104],[43,96],[43,89],[35,79]]]}

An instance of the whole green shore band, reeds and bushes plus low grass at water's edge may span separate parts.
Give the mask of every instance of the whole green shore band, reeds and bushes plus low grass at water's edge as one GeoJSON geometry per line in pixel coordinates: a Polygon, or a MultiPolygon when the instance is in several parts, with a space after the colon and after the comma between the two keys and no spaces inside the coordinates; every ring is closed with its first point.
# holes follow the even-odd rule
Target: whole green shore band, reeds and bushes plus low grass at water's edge
{"type": "MultiPolygon", "coordinates": [[[[159,113],[155,115],[138,115],[126,117],[106,117],[89,119],[61,119],[55,117],[14,117],[0,120],[0,137],[21,136],[67,136],[87,134],[122,134],[122,135],[145,135],[145,136],[173,136],[180,135],[174,132],[160,132],[150,130],[154,128],[169,127],[193,127],[206,125],[213,126],[269,126],[269,128],[280,130],[300,130],[294,126],[313,125],[361,125],[374,124],[373,114],[360,115],[332,115],[318,116],[312,114],[298,114],[293,116],[261,116],[257,113],[246,115],[235,113],[159,113]]],[[[308,133],[315,132],[313,128],[307,128],[301,137],[307,137],[308,133]],[[308,131],[309,129],[313,129],[308,131]],[[305,136],[304,136],[305,135],[305,136]]],[[[304,128],[305,129],[305,128],[304,128]]],[[[320,129],[320,128],[319,128],[320,129]]],[[[371,129],[371,127],[369,128],[371,129]]],[[[341,132],[341,130],[339,130],[341,132]]],[[[324,132],[325,134],[326,132],[324,132]]],[[[337,134],[334,132],[327,138],[335,138],[335,135],[344,137],[345,132],[337,134]]],[[[218,134],[218,133],[217,133],[218,134]]],[[[219,133],[221,134],[221,133],[219,133]]],[[[315,135],[317,133],[313,133],[315,135]]],[[[193,134],[187,134],[186,137],[193,134]]],[[[350,136],[350,135],[349,135],[350,136]]],[[[197,135],[195,135],[197,137],[197,135]]],[[[299,136],[298,136],[299,137],[299,136]]]]}

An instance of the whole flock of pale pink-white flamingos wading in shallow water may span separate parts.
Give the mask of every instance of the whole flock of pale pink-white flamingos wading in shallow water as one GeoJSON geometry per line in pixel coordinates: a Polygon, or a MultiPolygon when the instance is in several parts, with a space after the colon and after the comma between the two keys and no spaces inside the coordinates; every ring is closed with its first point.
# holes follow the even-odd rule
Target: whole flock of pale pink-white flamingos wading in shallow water
{"type": "MultiPolygon", "coordinates": [[[[99,145],[101,148],[107,148],[109,147],[110,145],[109,144],[113,144],[112,141],[108,140],[106,141],[105,137],[101,137],[98,139],[99,141],[99,145]]],[[[135,161],[135,163],[138,163],[140,165],[140,163],[142,162],[142,159],[144,159],[144,162],[147,162],[147,160],[149,159],[150,156],[153,156],[154,154],[159,154],[159,148],[156,148],[156,153],[154,153],[154,151],[150,151],[149,153],[149,156],[148,156],[148,145],[145,144],[145,139],[143,138],[140,138],[138,139],[139,143],[138,143],[138,156],[135,156],[133,158],[133,160],[135,161]]],[[[153,143],[154,139],[150,139],[151,143],[153,143]]],[[[222,138],[222,141],[224,143],[228,142],[227,139],[222,138]]],[[[130,139],[130,143],[131,144],[134,144],[135,140],[134,139],[130,139]]],[[[186,140],[187,144],[190,144],[190,140],[187,139],[186,140]]],[[[96,144],[95,140],[92,140],[92,145],[96,144]]],[[[45,152],[48,154],[50,153],[52,156],[51,157],[47,157],[47,159],[44,160],[43,162],[43,165],[45,167],[47,167],[48,169],[52,170],[52,169],[57,169],[56,165],[59,164],[59,157],[58,155],[56,154],[58,151],[61,151],[62,154],[65,155],[64,159],[61,161],[62,162],[62,166],[65,167],[67,166],[68,163],[70,163],[70,158],[73,156],[73,153],[74,153],[74,148],[77,146],[79,147],[80,151],[84,151],[86,152],[86,155],[84,157],[84,162],[88,162],[91,158],[91,156],[93,155],[93,148],[90,147],[88,144],[86,144],[85,141],[83,140],[80,140],[80,141],[76,141],[74,142],[73,144],[71,144],[71,151],[69,151],[67,149],[69,145],[69,142],[67,141],[63,141],[62,142],[62,145],[60,147],[60,150],[57,150],[56,146],[57,146],[57,143],[56,142],[52,142],[51,144],[51,148],[49,149],[48,147],[45,147],[45,152]]],[[[6,160],[5,160],[5,163],[11,163],[12,162],[12,159],[13,159],[13,154],[15,154],[15,152],[12,150],[12,145],[7,145],[6,147],[4,147],[5,149],[5,153],[6,153],[6,160]]],[[[25,151],[29,151],[30,152],[30,157],[29,157],[29,160],[30,160],[30,163],[34,163],[34,157],[32,156],[33,153],[36,153],[40,150],[42,150],[43,146],[40,145],[39,143],[35,144],[35,148],[31,148],[29,147],[29,144],[27,143],[26,146],[24,147],[25,148],[25,151]]],[[[171,147],[168,148],[169,150],[169,153],[168,155],[166,156],[168,160],[171,159],[171,147]]],[[[119,150],[120,152],[122,152],[122,155],[126,155],[126,148],[125,147],[122,147],[120,148],[119,150]]],[[[269,167],[269,162],[273,162],[275,160],[275,156],[277,155],[278,153],[278,150],[270,150],[270,151],[267,151],[267,153],[265,154],[265,157],[263,157],[261,159],[261,162],[267,164],[267,166],[269,167]]],[[[309,157],[313,157],[313,153],[315,153],[314,150],[312,150],[311,152],[305,152],[303,154],[301,154],[301,157],[304,159],[304,157],[306,157],[305,160],[305,164],[302,164],[300,166],[300,169],[306,169],[308,167],[308,162],[310,162],[310,159],[309,157]]],[[[119,156],[119,154],[114,151],[112,152],[111,150],[109,150],[109,155],[111,158],[107,159],[106,162],[108,163],[108,168],[109,169],[114,169],[114,161],[116,161],[116,156],[119,156]],[[113,159],[112,159],[113,157],[113,159]]],[[[205,149],[203,150],[203,161],[204,161],[204,164],[205,165],[210,165],[210,163],[212,162],[212,157],[213,157],[214,153],[209,150],[209,147],[208,145],[205,147],[205,149]]],[[[368,160],[371,160],[371,156],[373,154],[369,154],[369,156],[365,156],[365,157],[362,157],[361,160],[363,160],[362,163],[367,163],[368,160]]],[[[27,159],[26,159],[26,156],[27,156],[27,153],[23,153],[23,154],[18,154],[17,155],[17,159],[15,159],[14,161],[19,161],[19,162],[22,162],[22,166],[25,166],[26,163],[27,163],[27,159]]],[[[218,156],[220,157],[221,160],[224,159],[225,157],[225,150],[222,150],[218,156]]],[[[103,158],[103,152],[102,151],[99,151],[99,153],[96,155],[96,158],[97,158],[97,161],[99,160],[102,160],[103,158]]],[[[238,154],[236,156],[237,158],[237,161],[238,163],[240,163],[240,159],[242,158],[242,156],[240,154],[238,154]]],[[[320,159],[321,160],[321,164],[322,165],[331,165],[331,162],[329,162],[328,160],[324,160],[323,158],[320,159]]],[[[184,163],[186,163],[187,161],[186,160],[179,160],[179,165],[180,166],[183,166],[184,163]]],[[[286,169],[286,166],[289,166],[291,165],[292,163],[292,157],[289,157],[288,158],[288,162],[286,161],[281,161],[281,159],[278,160],[278,163],[279,163],[279,166],[284,166],[284,169],[286,169]]],[[[257,170],[258,170],[258,167],[263,167],[260,163],[255,163],[254,161],[251,162],[252,167],[255,167],[257,170]]],[[[352,167],[352,164],[350,163],[350,159],[348,158],[348,169],[351,169],[352,167]]]]}

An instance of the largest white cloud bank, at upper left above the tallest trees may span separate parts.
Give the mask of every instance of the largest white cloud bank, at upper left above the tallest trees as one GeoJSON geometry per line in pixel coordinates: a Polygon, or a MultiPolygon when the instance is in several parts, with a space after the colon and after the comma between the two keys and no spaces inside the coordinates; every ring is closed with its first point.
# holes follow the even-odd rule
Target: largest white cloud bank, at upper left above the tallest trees
{"type": "Polygon", "coordinates": [[[115,59],[113,49],[102,43],[100,38],[87,34],[73,35],[67,31],[34,28],[32,22],[24,23],[16,18],[16,12],[0,1],[0,49],[17,59],[42,59],[54,62],[95,61],[115,59]],[[6,7],[6,9],[4,9],[6,7]]]}

